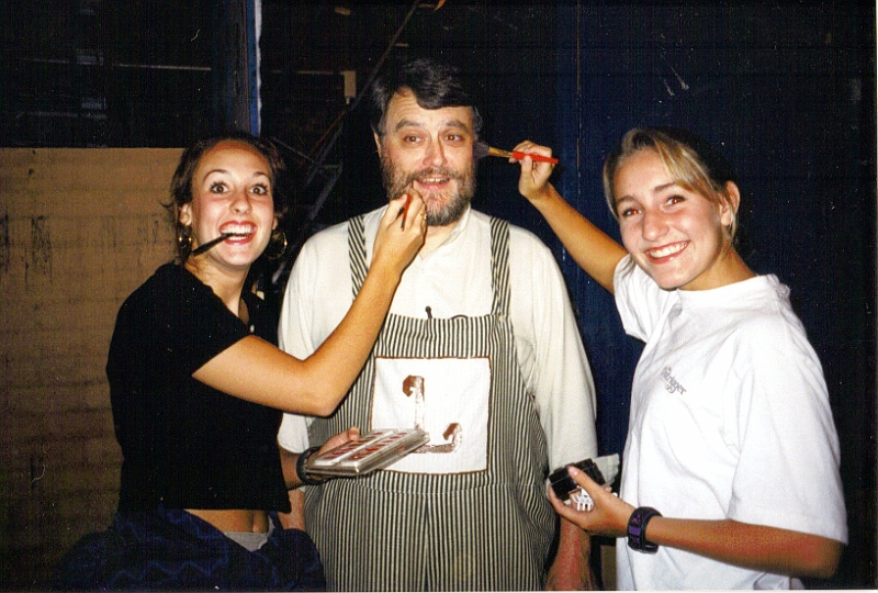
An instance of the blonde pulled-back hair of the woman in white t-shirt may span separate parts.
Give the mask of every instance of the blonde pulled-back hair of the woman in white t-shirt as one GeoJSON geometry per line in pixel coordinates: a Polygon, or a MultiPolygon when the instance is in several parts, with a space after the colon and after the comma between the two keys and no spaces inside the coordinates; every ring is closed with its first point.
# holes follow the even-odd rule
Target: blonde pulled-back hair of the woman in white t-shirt
{"type": "MultiPolygon", "coordinates": [[[[717,202],[729,199],[725,183],[738,184],[729,160],[705,138],[687,130],[668,126],[635,127],[629,131],[604,161],[604,194],[610,212],[616,212],[614,184],[622,164],[640,150],[655,150],[672,179],[682,187],[696,191],[705,199],[717,202]]],[[[734,237],[738,213],[734,212],[729,232],[734,237]]]]}

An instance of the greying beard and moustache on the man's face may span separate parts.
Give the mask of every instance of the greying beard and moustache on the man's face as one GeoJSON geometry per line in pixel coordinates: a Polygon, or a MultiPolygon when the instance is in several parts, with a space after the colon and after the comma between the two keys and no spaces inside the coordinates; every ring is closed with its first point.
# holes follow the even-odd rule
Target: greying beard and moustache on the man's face
{"type": "Polygon", "coordinates": [[[418,178],[448,177],[458,182],[455,192],[429,192],[421,194],[427,208],[427,226],[446,226],[458,222],[475,194],[475,160],[463,172],[444,167],[430,167],[406,174],[391,163],[386,152],[381,156],[381,178],[391,199],[402,195],[418,178]]]}

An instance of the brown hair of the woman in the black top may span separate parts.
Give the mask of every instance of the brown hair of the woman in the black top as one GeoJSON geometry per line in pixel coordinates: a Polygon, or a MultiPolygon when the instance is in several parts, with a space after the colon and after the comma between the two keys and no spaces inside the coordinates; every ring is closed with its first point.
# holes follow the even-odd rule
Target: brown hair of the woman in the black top
{"type": "Polygon", "coordinates": [[[195,175],[195,169],[201,161],[201,157],[211,150],[214,146],[223,142],[237,142],[246,144],[257,150],[268,163],[270,181],[271,181],[271,197],[274,202],[274,215],[278,220],[282,220],[289,208],[286,190],[285,190],[285,172],[286,165],[280,155],[277,146],[271,142],[254,136],[247,132],[233,131],[224,134],[217,134],[203,139],[200,139],[185,148],[183,154],[180,155],[180,161],[177,164],[177,170],[173,171],[170,187],[171,201],[165,204],[170,213],[175,230],[177,232],[177,257],[180,261],[185,261],[189,256],[189,242],[179,240],[179,237],[184,236],[187,230],[180,224],[180,209],[192,201],[192,178],[195,175]]]}

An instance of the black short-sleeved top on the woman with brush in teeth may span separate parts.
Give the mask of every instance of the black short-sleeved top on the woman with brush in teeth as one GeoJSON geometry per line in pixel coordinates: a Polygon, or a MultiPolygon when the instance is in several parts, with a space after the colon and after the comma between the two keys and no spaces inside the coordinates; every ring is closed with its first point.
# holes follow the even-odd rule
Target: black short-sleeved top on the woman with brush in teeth
{"type": "Polygon", "coordinates": [[[192,273],[165,265],[123,303],[106,376],[122,446],[120,511],[290,511],[282,413],[192,378],[243,337],[277,344],[277,318],[245,291],[250,327],[192,273]]]}

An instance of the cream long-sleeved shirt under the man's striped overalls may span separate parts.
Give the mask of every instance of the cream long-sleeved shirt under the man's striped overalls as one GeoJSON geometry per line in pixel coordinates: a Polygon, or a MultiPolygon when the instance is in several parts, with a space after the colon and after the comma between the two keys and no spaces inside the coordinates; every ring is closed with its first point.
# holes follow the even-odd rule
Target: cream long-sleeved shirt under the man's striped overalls
{"type": "MultiPolygon", "coordinates": [[[[384,209],[365,215],[367,261],[384,209]]],[[[595,389],[561,270],[533,234],[509,226],[510,315],[521,377],[547,436],[550,469],[597,456],[595,389]]],[[[352,303],[348,223],[317,233],[296,258],[281,310],[280,346],[309,356],[352,303]]],[[[491,223],[468,210],[446,242],[416,256],[403,275],[391,313],[427,318],[491,313],[491,223]]],[[[282,447],[308,446],[309,417],[286,414],[282,447]]]]}

